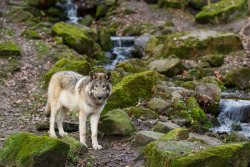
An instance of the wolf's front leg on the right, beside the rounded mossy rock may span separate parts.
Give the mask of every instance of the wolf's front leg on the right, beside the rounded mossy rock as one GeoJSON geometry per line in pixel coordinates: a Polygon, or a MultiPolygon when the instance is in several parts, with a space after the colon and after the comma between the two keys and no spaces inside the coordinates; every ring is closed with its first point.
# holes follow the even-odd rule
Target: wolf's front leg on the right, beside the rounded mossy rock
{"type": "Polygon", "coordinates": [[[97,141],[97,126],[99,122],[100,114],[93,114],[90,116],[90,124],[91,124],[91,133],[92,133],[92,146],[95,150],[102,149],[102,146],[98,144],[97,141]]]}

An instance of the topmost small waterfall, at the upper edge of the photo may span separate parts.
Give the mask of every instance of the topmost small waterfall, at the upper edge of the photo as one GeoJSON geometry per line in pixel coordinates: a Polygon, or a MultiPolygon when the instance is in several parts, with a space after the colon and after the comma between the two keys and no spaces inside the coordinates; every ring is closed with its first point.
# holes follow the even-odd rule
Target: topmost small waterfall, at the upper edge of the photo
{"type": "Polygon", "coordinates": [[[68,22],[77,23],[78,20],[77,5],[73,4],[71,0],[67,0],[65,7],[66,7],[67,17],[69,19],[68,22]]]}

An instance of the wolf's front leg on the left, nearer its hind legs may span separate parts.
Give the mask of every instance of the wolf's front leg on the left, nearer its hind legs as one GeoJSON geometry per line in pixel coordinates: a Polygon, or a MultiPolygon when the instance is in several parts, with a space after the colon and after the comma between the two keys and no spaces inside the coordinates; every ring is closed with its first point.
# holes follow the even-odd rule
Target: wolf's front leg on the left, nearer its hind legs
{"type": "Polygon", "coordinates": [[[81,110],[79,113],[79,131],[80,131],[80,142],[87,146],[86,144],[86,120],[87,114],[81,110]]]}

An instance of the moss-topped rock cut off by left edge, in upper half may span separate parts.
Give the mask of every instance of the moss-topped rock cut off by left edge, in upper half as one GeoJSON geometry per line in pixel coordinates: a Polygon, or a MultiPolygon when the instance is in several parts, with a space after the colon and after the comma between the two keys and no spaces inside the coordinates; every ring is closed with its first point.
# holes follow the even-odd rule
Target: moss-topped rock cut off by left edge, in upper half
{"type": "Polygon", "coordinates": [[[3,42],[0,43],[0,56],[9,57],[9,56],[20,56],[21,52],[19,47],[12,42],[3,42]]]}

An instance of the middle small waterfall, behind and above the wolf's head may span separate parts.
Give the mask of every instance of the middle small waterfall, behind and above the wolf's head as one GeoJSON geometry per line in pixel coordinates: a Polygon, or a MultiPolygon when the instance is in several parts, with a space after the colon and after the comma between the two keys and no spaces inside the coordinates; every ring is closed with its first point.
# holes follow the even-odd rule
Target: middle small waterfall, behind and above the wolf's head
{"type": "Polygon", "coordinates": [[[117,63],[129,59],[129,54],[134,48],[135,37],[111,37],[113,42],[113,51],[106,52],[106,58],[112,60],[111,63],[104,65],[105,69],[114,69],[117,63]]]}

